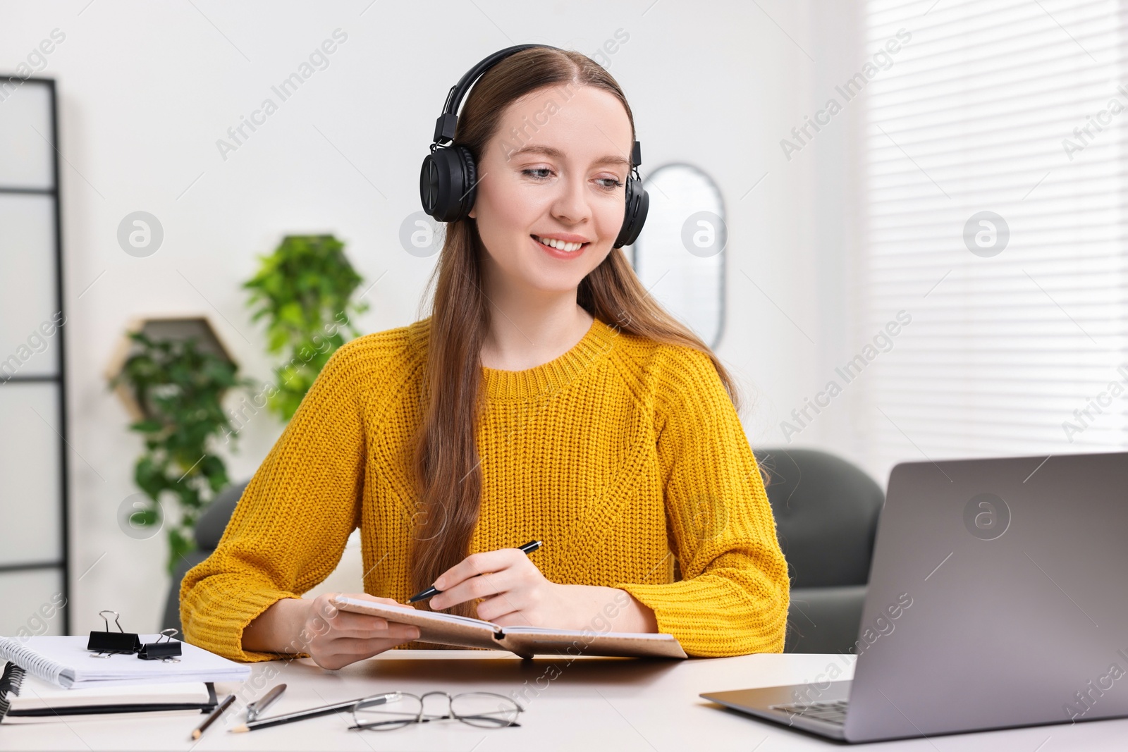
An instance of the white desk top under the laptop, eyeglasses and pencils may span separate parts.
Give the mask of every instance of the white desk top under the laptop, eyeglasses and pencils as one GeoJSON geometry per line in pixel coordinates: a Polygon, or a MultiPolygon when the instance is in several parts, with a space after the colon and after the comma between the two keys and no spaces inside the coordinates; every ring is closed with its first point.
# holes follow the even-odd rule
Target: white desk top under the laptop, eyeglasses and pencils
{"type": "MultiPolygon", "coordinates": [[[[249,682],[268,672],[273,687],[288,684],[266,715],[355,699],[385,690],[520,692],[529,690],[520,728],[481,729],[457,720],[413,725],[386,732],[347,731],[350,716],[323,716],[261,731],[231,734],[243,714],[228,711],[193,743],[192,729],[204,716],[108,719],[0,727],[0,750],[459,750],[461,752],[549,752],[550,750],[1123,750],[1128,719],[1037,726],[981,734],[934,736],[843,747],[802,732],[720,709],[698,692],[812,681],[834,655],[746,655],[682,662],[582,657],[571,665],[550,658],[522,662],[491,651],[389,651],[340,671],[325,671],[308,658],[256,663],[249,682]],[[561,673],[548,681],[545,671],[561,673]],[[1047,741],[1049,740],[1049,741],[1047,741]]],[[[853,665],[843,673],[848,679],[853,665]]],[[[927,678],[922,676],[922,681],[927,678]]],[[[248,683],[249,683],[248,682],[248,683]]],[[[218,683],[226,696],[238,683],[218,683]]],[[[261,692],[243,692],[252,701],[261,692]]],[[[430,700],[429,700],[430,701],[430,700]]],[[[430,706],[429,706],[430,708],[430,706]]]]}

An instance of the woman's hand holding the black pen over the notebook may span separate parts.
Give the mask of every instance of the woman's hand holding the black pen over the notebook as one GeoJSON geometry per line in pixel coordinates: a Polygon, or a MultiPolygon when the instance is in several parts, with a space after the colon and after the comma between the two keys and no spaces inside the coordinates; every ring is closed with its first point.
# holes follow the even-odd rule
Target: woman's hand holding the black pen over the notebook
{"type": "Polygon", "coordinates": [[[434,587],[442,592],[431,599],[433,610],[483,599],[478,618],[503,627],[658,631],[653,610],[626,591],[550,582],[517,548],[472,554],[442,573],[434,587]]]}

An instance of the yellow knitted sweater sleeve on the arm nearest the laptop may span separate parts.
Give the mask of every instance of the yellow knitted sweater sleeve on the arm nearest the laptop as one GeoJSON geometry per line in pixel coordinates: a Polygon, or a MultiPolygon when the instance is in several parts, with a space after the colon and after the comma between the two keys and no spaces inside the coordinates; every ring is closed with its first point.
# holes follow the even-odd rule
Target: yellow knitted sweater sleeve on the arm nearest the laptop
{"type": "Polygon", "coordinates": [[[704,353],[678,348],[660,378],[658,454],[682,578],[616,587],[689,655],[782,653],[787,564],[740,417],[704,353]]]}

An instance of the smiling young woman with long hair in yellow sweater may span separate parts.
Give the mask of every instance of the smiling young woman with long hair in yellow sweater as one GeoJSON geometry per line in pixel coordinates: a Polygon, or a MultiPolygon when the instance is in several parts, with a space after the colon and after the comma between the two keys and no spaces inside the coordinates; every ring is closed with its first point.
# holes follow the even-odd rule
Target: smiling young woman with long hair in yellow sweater
{"type": "Polygon", "coordinates": [[[439,647],[300,598],[359,527],[356,598],[434,585],[418,608],[783,649],[787,567],[735,384],[613,248],[634,141],[580,53],[523,50],[478,79],[455,138],[475,203],[447,227],[431,315],[334,353],[184,577],[188,642],[327,669],[439,647]]]}

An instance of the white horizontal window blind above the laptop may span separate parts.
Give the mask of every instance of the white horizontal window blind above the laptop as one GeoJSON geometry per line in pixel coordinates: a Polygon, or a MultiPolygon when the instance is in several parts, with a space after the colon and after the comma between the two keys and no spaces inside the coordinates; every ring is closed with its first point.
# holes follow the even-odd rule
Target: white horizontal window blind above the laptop
{"type": "Polygon", "coordinates": [[[871,0],[864,28],[870,60],[910,35],[864,85],[858,345],[910,317],[855,375],[866,465],[1128,446],[1120,2],[871,0]]]}

